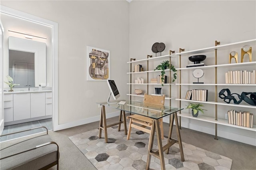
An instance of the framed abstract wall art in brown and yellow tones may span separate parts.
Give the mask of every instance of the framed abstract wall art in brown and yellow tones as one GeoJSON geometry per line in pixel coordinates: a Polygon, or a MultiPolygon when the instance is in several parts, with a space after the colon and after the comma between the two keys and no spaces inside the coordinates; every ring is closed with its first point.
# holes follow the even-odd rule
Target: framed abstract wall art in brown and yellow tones
{"type": "Polygon", "coordinates": [[[110,51],[87,46],[87,80],[110,79],[110,51]]]}

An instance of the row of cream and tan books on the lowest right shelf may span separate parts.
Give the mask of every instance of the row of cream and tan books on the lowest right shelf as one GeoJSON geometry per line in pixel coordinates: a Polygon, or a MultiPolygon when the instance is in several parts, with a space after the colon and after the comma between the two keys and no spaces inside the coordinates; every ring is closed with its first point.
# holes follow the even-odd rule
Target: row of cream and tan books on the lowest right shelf
{"type": "Polygon", "coordinates": [[[242,127],[253,127],[253,114],[236,110],[228,111],[228,123],[242,127]]]}

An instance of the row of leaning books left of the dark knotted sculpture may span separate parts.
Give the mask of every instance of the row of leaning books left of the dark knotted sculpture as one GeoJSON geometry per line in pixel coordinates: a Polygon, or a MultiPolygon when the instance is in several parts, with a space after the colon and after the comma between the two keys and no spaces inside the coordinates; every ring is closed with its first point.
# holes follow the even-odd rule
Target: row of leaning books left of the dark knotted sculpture
{"type": "Polygon", "coordinates": [[[195,100],[195,101],[207,101],[208,100],[208,90],[204,89],[193,89],[188,90],[186,93],[186,100],[195,100]]]}

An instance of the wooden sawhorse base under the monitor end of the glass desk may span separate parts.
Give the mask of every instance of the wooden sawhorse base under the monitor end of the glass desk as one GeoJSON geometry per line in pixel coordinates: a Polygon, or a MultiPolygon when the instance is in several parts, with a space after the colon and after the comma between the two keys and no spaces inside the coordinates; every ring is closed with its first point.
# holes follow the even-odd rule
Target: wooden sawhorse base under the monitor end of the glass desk
{"type": "Polygon", "coordinates": [[[105,134],[105,143],[108,143],[108,132],[107,128],[112,127],[114,125],[118,125],[118,131],[120,131],[121,123],[124,123],[124,133],[127,134],[127,127],[126,127],[126,116],[125,116],[125,111],[120,111],[120,116],[119,116],[119,122],[118,123],[113,123],[111,125],[107,125],[106,123],[106,111],[105,111],[105,106],[101,106],[101,113],[100,113],[100,127],[99,127],[99,138],[101,138],[102,134],[102,129],[104,130],[105,134]],[[122,121],[122,115],[124,121],[122,121]]]}

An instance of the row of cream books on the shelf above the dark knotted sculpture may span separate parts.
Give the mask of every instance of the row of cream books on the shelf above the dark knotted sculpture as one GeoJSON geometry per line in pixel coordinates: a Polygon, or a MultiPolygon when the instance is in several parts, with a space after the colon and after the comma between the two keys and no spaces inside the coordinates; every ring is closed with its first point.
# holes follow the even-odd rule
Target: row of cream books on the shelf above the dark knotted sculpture
{"type": "Polygon", "coordinates": [[[228,71],[225,73],[226,84],[256,84],[256,70],[253,71],[228,71]]]}

